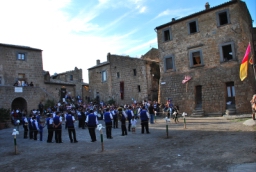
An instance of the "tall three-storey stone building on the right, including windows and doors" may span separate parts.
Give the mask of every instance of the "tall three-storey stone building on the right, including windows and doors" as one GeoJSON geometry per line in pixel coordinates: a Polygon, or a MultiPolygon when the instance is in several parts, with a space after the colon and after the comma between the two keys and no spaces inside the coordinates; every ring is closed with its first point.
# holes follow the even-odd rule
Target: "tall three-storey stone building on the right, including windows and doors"
{"type": "MultiPolygon", "coordinates": [[[[189,115],[251,113],[253,68],[244,81],[240,64],[252,40],[245,2],[232,0],[156,27],[160,51],[159,101],[170,98],[189,115]],[[185,76],[191,79],[182,84],[185,76]]],[[[252,52],[253,52],[252,46],[252,52]]]]}

